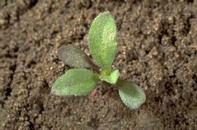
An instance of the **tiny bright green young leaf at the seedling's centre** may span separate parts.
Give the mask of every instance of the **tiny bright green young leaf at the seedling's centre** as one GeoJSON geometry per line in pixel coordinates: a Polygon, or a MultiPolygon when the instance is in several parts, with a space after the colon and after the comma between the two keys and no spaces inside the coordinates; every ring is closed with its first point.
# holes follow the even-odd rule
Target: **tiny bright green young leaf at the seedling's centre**
{"type": "Polygon", "coordinates": [[[100,80],[106,81],[110,84],[116,84],[118,78],[119,78],[119,70],[114,70],[113,72],[111,72],[110,75],[106,75],[106,74],[101,74],[99,76],[100,80]]]}

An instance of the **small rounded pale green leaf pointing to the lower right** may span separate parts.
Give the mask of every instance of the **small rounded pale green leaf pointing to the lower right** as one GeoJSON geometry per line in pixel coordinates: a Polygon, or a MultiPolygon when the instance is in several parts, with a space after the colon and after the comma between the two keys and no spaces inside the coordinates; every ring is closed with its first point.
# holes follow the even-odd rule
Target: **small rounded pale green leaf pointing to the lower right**
{"type": "Polygon", "coordinates": [[[131,81],[118,81],[119,95],[122,102],[130,109],[137,109],[146,100],[142,88],[131,81]]]}

